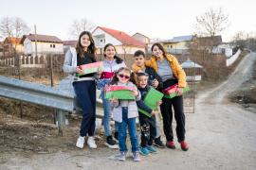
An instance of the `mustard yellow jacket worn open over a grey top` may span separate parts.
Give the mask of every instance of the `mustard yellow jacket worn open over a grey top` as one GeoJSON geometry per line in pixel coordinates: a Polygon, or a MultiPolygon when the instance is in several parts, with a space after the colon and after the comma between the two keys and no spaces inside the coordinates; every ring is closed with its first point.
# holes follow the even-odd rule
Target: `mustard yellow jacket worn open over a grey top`
{"type": "MultiPolygon", "coordinates": [[[[179,65],[177,59],[170,54],[166,54],[166,59],[169,61],[170,66],[172,68],[172,71],[174,73],[174,77],[178,80],[178,87],[184,88],[187,86],[186,82],[186,74],[184,70],[179,65]]],[[[155,70],[155,73],[157,73],[157,64],[156,64],[156,58],[155,56],[152,56],[150,60],[145,61],[145,65],[148,67],[152,67],[155,70]]]]}

